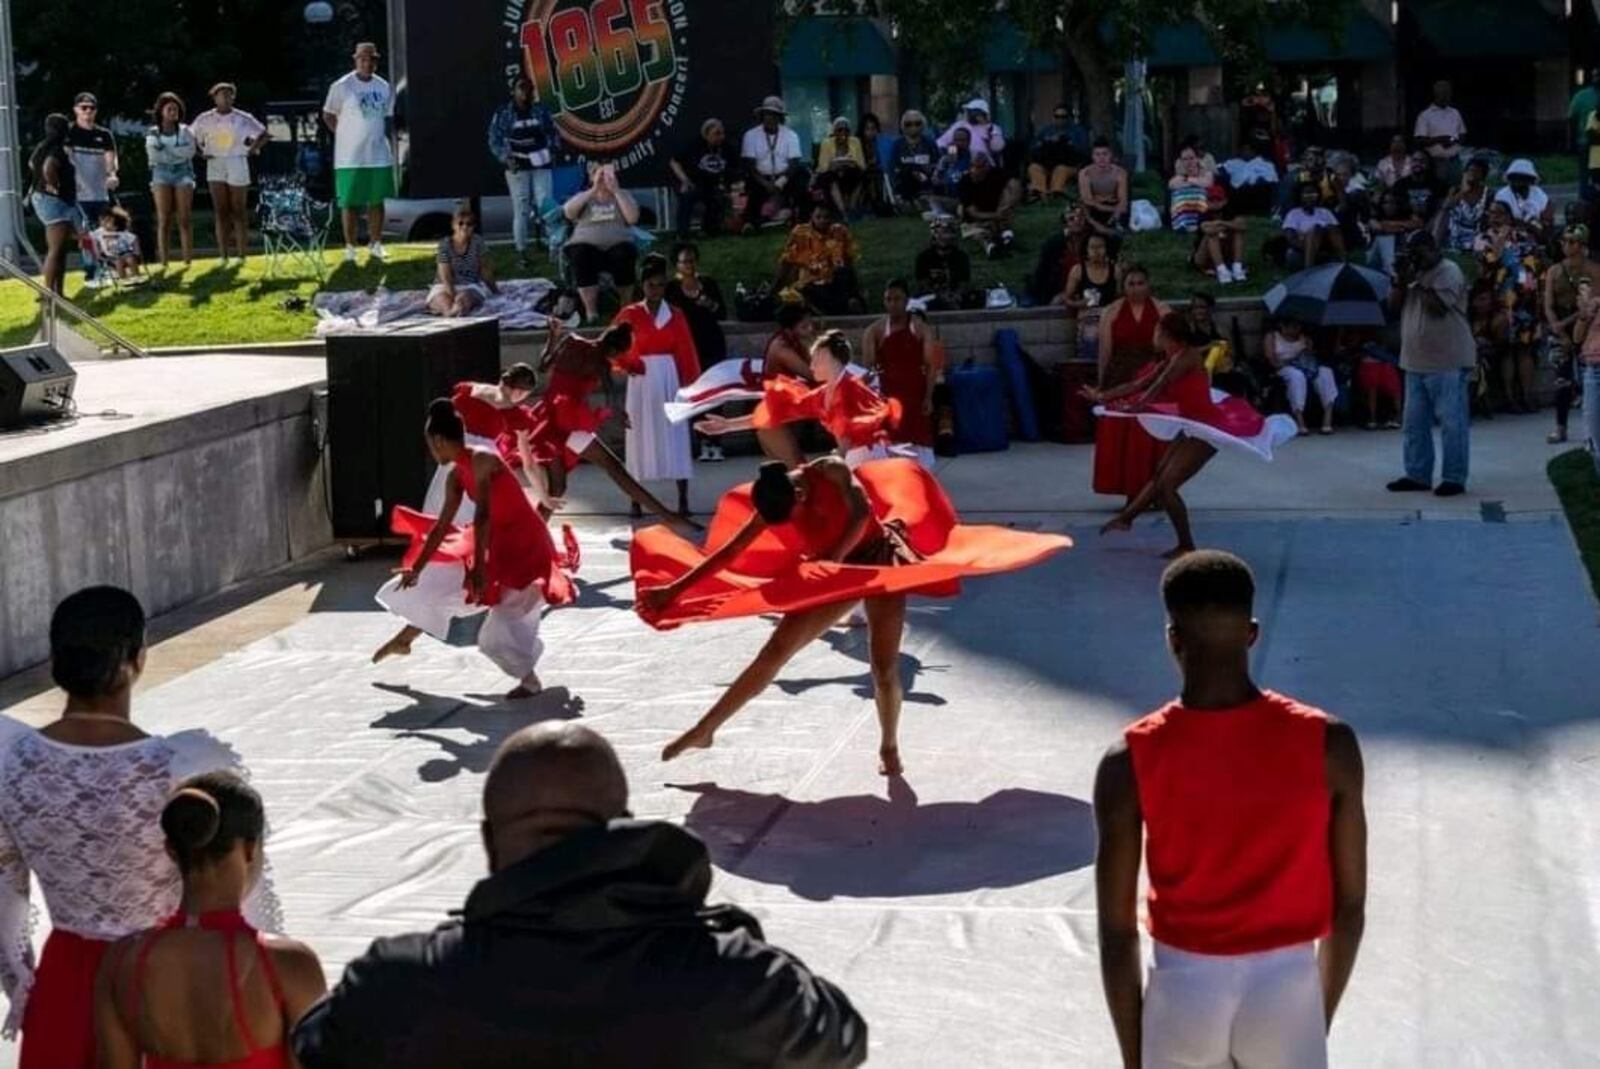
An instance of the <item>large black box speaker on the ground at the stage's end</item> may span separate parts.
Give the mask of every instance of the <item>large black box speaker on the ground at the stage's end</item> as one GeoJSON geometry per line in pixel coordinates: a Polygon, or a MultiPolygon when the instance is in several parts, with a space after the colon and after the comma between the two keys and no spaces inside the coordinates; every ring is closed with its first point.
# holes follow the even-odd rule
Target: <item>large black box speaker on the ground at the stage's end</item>
{"type": "Polygon", "coordinates": [[[434,477],[427,403],[461,381],[499,379],[499,320],[422,320],[328,336],[333,536],[382,538],[397,504],[418,509],[434,477]]]}

